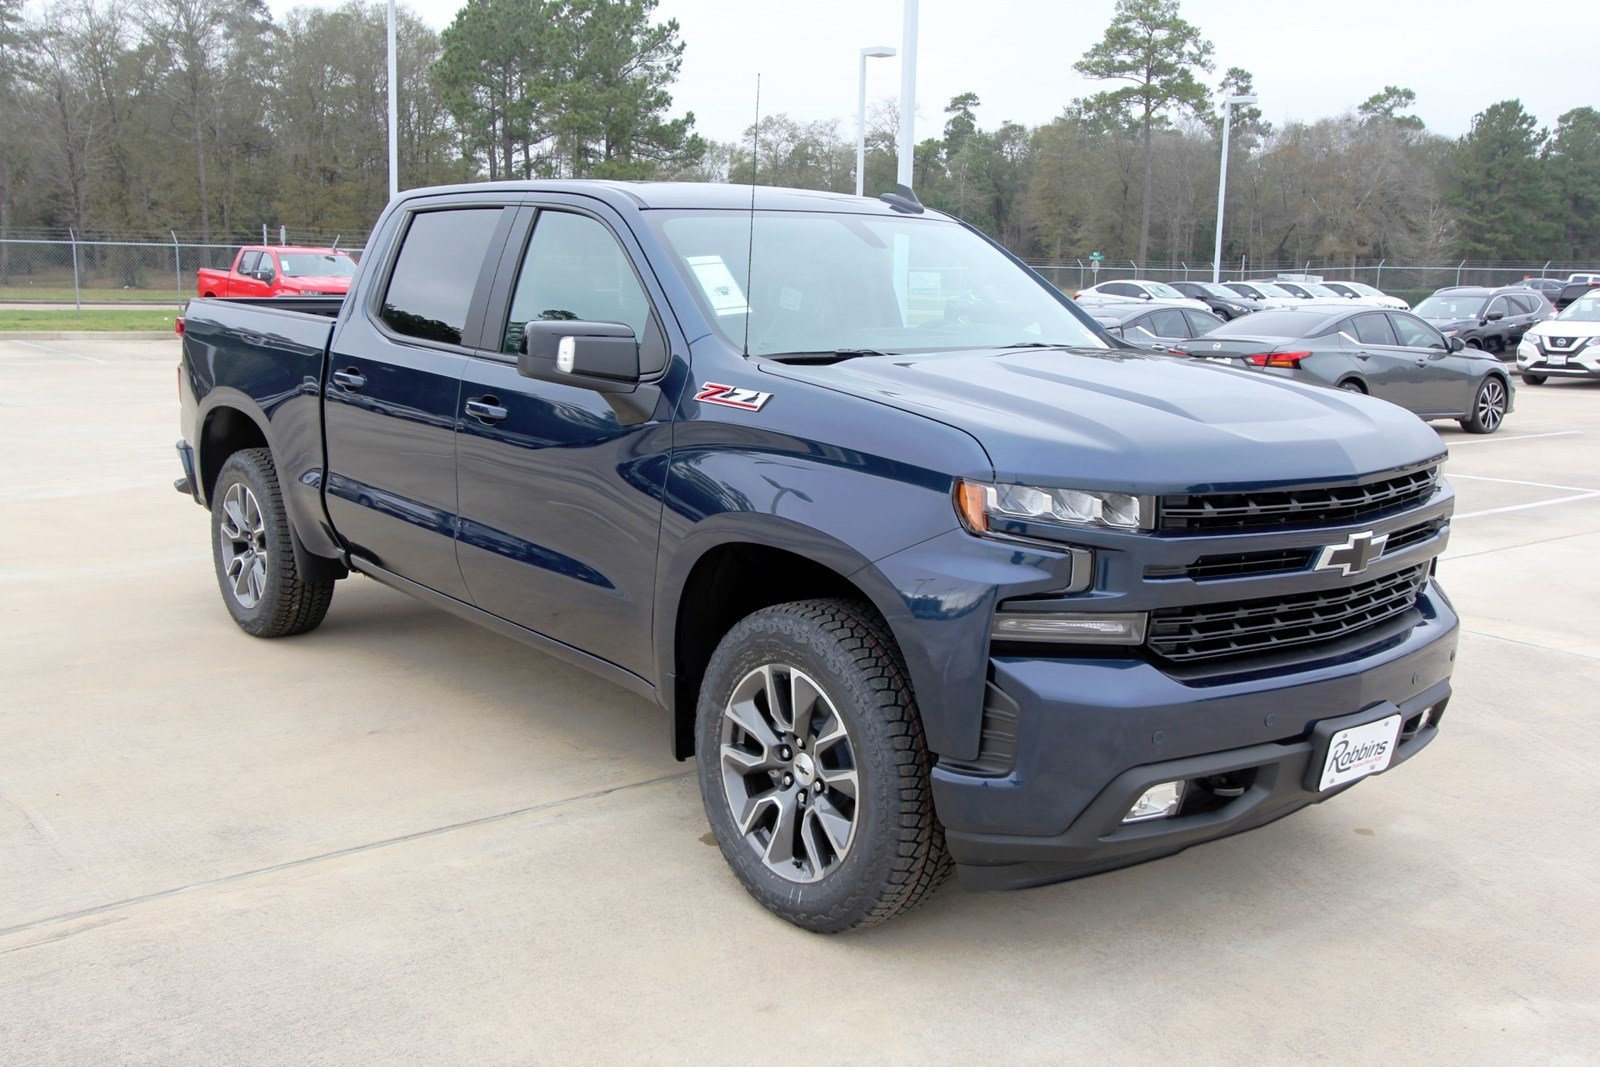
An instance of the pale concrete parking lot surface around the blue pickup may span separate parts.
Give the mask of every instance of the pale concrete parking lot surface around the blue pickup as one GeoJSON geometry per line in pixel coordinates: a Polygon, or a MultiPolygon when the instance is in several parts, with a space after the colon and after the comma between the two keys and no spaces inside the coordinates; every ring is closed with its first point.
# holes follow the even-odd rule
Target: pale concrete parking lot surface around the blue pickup
{"type": "Polygon", "coordinates": [[[1414,761],[819,937],[734,881],[653,705],[362,579],[243,635],[176,358],[0,339],[0,1061],[1595,1061],[1600,384],[1438,424],[1464,632],[1414,761]]]}

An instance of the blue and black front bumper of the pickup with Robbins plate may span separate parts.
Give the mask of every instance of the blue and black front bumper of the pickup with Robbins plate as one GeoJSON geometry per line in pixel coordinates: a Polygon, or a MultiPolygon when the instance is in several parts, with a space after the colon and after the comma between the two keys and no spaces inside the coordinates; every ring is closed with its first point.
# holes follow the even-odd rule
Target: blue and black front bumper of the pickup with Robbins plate
{"type": "Polygon", "coordinates": [[[1418,611],[1419,621],[1366,648],[1205,685],[1142,659],[995,657],[992,702],[1016,723],[1014,765],[1003,776],[949,763],[933,771],[963,886],[1016,889],[1126,867],[1326,800],[1349,785],[1306,785],[1323,720],[1398,709],[1408,733],[1390,766],[1403,763],[1437,736],[1459,627],[1434,582],[1418,611]],[[1430,707],[1432,721],[1414,728],[1430,707]],[[1122,822],[1157,782],[1222,774],[1243,792],[1192,792],[1200,803],[1171,819],[1122,822]]]}

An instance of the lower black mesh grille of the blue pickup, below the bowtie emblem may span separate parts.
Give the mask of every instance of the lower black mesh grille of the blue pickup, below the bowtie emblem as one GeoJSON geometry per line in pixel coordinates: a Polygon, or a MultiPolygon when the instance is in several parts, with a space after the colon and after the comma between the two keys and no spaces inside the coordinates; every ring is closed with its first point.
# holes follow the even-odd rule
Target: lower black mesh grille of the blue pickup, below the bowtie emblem
{"type": "Polygon", "coordinates": [[[1333,641],[1410,611],[1426,581],[1424,563],[1328,592],[1163,608],[1150,613],[1146,641],[1173,662],[1333,641]]]}

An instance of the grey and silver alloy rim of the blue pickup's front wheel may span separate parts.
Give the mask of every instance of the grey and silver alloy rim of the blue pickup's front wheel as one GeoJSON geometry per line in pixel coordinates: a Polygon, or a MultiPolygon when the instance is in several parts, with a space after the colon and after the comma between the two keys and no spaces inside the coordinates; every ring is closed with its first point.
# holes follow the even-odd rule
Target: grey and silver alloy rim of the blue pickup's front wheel
{"type": "Polygon", "coordinates": [[[856,837],[850,729],[822,688],[787,664],[744,675],[722,715],[722,784],[746,843],[787,881],[818,881],[856,837]]]}

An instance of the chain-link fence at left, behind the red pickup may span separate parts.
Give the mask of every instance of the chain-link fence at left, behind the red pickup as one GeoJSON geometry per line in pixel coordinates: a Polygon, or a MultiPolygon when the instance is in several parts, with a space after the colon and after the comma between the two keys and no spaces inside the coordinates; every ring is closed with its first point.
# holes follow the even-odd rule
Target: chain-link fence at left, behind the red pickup
{"type": "MultiPolygon", "coordinates": [[[[344,251],[360,256],[360,248],[344,251]]],[[[235,253],[237,243],[0,240],[0,304],[182,306],[195,294],[195,274],[226,270],[235,253]]]]}

